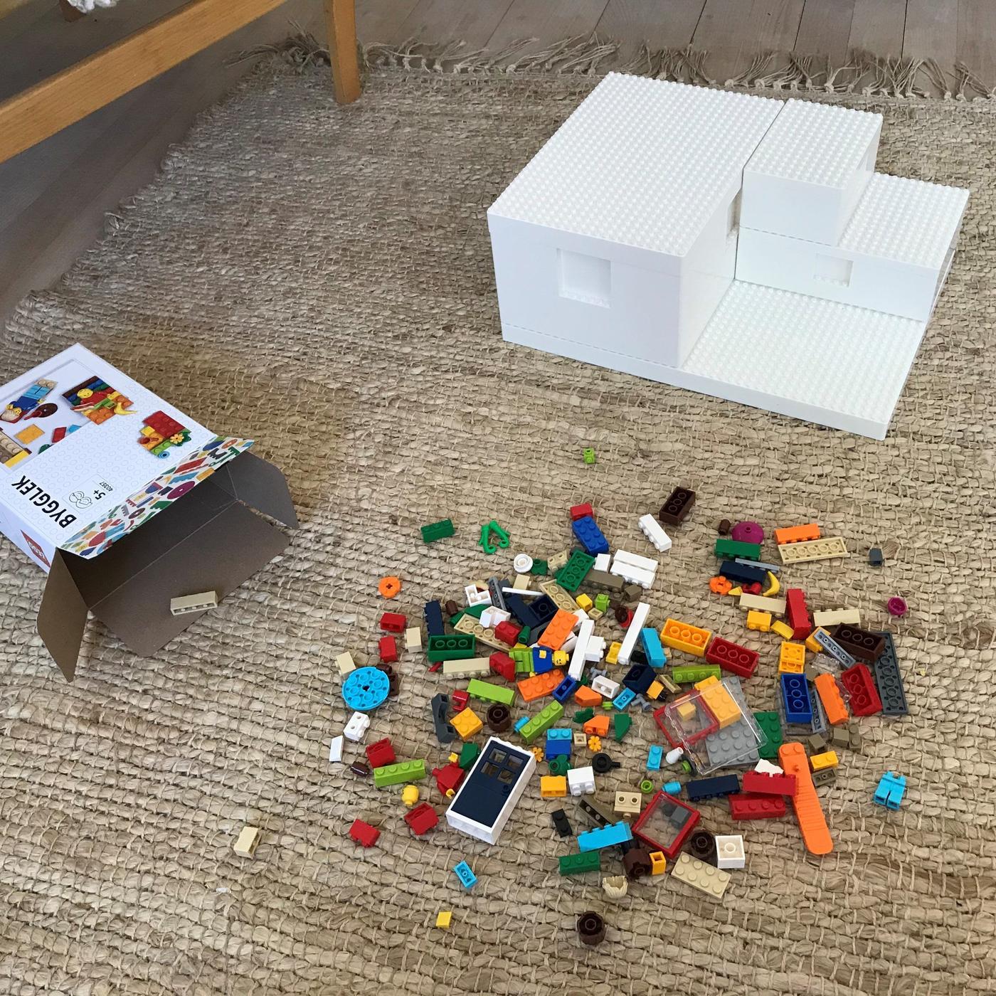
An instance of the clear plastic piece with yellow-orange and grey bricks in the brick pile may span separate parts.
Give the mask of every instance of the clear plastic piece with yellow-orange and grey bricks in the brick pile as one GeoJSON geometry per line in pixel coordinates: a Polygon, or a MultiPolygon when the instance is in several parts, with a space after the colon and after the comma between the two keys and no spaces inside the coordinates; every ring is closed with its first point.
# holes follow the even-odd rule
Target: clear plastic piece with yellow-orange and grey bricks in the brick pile
{"type": "Polygon", "coordinates": [[[703,775],[756,764],[758,748],[767,743],[735,678],[700,682],[668,702],[658,724],[671,745],[680,747],[703,775]]]}

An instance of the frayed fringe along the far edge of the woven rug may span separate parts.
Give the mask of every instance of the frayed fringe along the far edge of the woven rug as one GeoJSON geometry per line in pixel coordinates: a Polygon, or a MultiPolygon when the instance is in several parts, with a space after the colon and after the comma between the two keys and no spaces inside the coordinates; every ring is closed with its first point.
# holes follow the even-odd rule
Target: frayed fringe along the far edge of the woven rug
{"type": "MultiPolygon", "coordinates": [[[[315,65],[329,65],[328,48],[299,24],[292,22],[292,27],[294,33],[284,41],[237,53],[229,62],[278,56],[301,71],[315,65]]],[[[488,51],[468,49],[461,41],[429,44],[409,38],[400,45],[375,42],[365,45],[361,58],[367,71],[597,75],[610,68],[606,64],[620,49],[619,42],[598,35],[576,35],[539,51],[528,51],[535,44],[535,38],[521,38],[502,49],[488,51]]],[[[644,42],[635,56],[611,68],[655,80],[719,86],[710,74],[708,56],[705,49],[651,48],[644,42]]],[[[952,70],[945,71],[934,59],[877,56],[861,49],[850,52],[847,61],[838,66],[826,56],[761,52],[743,72],[721,85],[745,90],[857,93],[907,100],[996,100],[996,87],[988,87],[964,63],[955,63],[952,70]]]]}

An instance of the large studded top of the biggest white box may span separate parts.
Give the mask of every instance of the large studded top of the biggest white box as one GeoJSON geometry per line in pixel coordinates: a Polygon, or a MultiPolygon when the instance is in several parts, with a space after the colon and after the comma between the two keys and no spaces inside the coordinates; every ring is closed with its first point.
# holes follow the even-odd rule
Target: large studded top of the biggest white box
{"type": "Polygon", "coordinates": [[[610,73],[488,213],[682,256],[781,108],[610,73]]]}

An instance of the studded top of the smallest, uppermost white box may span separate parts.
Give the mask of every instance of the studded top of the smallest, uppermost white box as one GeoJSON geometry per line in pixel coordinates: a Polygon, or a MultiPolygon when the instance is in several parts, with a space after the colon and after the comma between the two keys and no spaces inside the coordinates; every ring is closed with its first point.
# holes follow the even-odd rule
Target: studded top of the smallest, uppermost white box
{"type": "Polygon", "coordinates": [[[844,187],[862,164],[881,115],[789,101],[747,163],[747,171],[844,187]]]}

